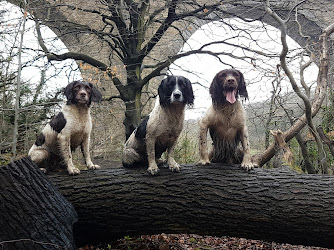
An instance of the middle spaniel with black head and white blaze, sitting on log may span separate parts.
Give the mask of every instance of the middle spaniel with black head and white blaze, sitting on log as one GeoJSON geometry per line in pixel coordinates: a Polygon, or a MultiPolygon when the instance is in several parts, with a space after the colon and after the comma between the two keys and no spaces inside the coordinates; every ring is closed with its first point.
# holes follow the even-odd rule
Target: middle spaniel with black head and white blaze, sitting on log
{"type": "Polygon", "coordinates": [[[123,166],[148,162],[147,171],[158,173],[157,160],[167,150],[167,164],[173,172],[180,171],[174,160],[174,148],[183,129],[185,106],[194,103],[191,82],[182,76],[168,76],[158,88],[159,98],[148,117],[133,131],[125,143],[123,166]]]}

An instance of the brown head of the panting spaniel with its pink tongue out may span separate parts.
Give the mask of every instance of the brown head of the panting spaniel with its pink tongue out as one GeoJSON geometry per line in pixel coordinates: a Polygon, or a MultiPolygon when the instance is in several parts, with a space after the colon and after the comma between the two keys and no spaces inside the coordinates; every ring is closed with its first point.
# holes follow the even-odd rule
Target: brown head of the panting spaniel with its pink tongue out
{"type": "Polygon", "coordinates": [[[233,104],[239,95],[248,98],[243,74],[235,69],[218,72],[211,83],[210,95],[214,105],[233,104]]]}

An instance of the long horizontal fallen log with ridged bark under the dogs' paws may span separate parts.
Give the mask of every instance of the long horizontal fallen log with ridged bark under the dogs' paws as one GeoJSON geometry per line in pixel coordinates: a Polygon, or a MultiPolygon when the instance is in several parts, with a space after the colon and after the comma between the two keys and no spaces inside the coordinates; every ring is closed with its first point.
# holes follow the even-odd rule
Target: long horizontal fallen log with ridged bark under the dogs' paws
{"type": "Polygon", "coordinates": [[[121,166],[48,175],[78,213],[77,246],[195,233],[334,247],[333,176],[221,164],[160,169],[155,177],[121,166]]]}

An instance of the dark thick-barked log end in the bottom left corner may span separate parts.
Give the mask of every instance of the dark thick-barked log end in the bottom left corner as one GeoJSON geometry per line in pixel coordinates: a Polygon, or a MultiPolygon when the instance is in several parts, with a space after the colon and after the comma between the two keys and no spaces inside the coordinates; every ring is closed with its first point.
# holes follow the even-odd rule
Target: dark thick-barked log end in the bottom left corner
{"type": "Polygon", "coordinates": [[[73,206],[29,159],[0,167],[1,249],[75,249],[73,206]]]}

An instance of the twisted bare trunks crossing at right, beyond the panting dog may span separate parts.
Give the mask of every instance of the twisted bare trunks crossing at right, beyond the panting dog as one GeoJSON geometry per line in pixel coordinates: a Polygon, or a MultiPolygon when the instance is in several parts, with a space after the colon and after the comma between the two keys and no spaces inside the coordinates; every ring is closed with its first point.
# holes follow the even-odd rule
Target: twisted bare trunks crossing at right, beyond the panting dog
{"type": "MultiPolygon", "coordinates": [[[[298,5],[295,6],[297,8],[298,5]]],[[[319,73],[317,78],[317,86],[315,88],[315,95],[313,101],[310,99],[310,88],[305,85],[304,77],[303,77],[303,70],[311,63],[306,62],[300,68],[301,74],[301,86],[304,88],[304,92],[298,86],[295,78],[292,75],[291,70],[287,66],[286,56],[288,53],[288,45],[286,42],[287,37],[287,20],[291,18],[288,16],[287,19],[281,18],[275,11],[273,11],[269,1],[266,1],[266,11],[269,15],[271,15],[280,25],[281,30],[281,42],[282,42],[282,51],[280,54],[280,66],[284,70],[285,74],[289,78],[291,86],[295,93],[303,100],[305,112],[304,114],[299,117],[295,123],[284,133],[284,138],[286,141],[292,139],[299,131],[305,126],[308,125],[310,132],[312,133],[313,137],[315,138],[317,148],[318,148],[318,161],[319,165],[321,166],[321,171],[325,174],[328,174],[328,159],[326,153],[324,151],[323,143],[321,138],[316,130],[316,127],[313,122],[313,117],[317,114],[320,110],[322,102],[326,97],[326,90],[327,90],[327,77],[328,77],[328,68],[329,68],[329,52],[328,52],[328,38],[334,32],[334,23],[327,26],[322,34],[320,35],[320,52],[318,54],[317,60],[319,64],[319,73]]],[[[297,16],[297,15],[296,15],[297,16]]],[[[296,22],[298,20],[296,19],[296,22]]],[[[305,48],[308,50],[308,48],[305,48]]],[[[311,53],[311,60],[314,60],[315,55],[312,51],[309,50],[311,53]]],[[[257,162],[259,165],[263,165],[268,159],[271,158],[271,155],[274,154],[274,145],[268,147],[267,150],[259,155],[257,162]]]]}

